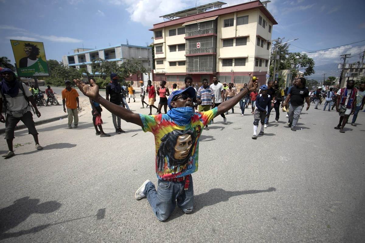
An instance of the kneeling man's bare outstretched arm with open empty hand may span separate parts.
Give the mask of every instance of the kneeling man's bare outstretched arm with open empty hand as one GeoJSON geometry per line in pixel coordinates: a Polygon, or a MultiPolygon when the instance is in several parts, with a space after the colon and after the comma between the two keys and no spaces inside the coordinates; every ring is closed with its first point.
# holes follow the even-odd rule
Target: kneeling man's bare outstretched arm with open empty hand
{"type": "Polygon", "coordinates": [[[92,85],[85,85],[84,82],[80,81],[80,79],[73,80],[77,85],[78,89],[82,92],[82,94],[86,95],[87,97],[93,99],[97,103],[103,105],[108,111],[113,113],[114,115],[122,118],[126,122],[132,122],[138,126],[142,126],[142,120],[138,113],[133,113],[121,106],[115,105],[112,102],[107,101],[99,94],[99,86],[93,80],[90,80],[92,85]]]}

